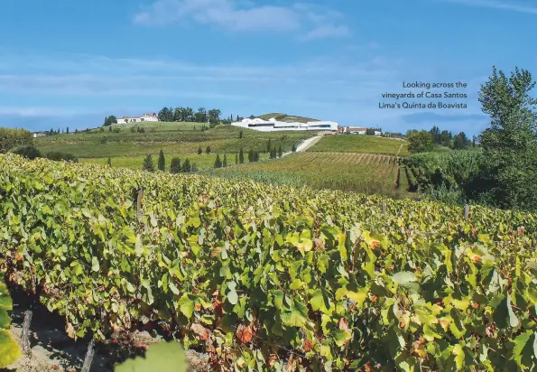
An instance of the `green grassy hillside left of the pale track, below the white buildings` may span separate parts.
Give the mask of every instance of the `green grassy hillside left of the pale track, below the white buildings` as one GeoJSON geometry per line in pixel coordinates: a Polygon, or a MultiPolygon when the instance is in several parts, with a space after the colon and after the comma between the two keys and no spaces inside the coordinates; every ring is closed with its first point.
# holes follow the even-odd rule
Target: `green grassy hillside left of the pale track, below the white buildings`
{"type": "Polygon", "coordinates": [[[118,156],[143,156],[147,153],[157,155],[164,153],[197,154],[199,146],[205,151],[210,146],[212,153],[236,153],[243,148],[246,152],[254,149],[266,151],[269,138],[274,145],[282,144],[283,151],[291,149],[312,134],[306,132],[263,133],[251,129],[242,129],[243,138],[239,138],[241,129],[236,126],[217,126],[201,132],[199,123],[143,123],[148,128],[145,133],[131,133],[129,125],[117,125],[120,133],[100,132],[69,135],[53,135],[38,138],[37,147],[44,153],[61,151],[74,153],[79,158],[99,158],[118,156]],[[194,130],[196,126],[196,130],[194,130]]]}

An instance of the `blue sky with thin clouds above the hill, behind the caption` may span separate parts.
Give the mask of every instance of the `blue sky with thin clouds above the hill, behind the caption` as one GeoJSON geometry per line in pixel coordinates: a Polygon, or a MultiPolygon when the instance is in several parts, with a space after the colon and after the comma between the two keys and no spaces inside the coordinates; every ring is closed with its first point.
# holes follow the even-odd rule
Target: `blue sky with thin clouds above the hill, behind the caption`
{"type": "Polygon", "coordinates": [[[5,0],[0,14],[0,125],[31,130],[190,106],[477,134],[492,66],[537,74],[533,0],[5,0]],[[378,108],[416,80],[468,83],[443,100],[468,108],[378,108]]]}

